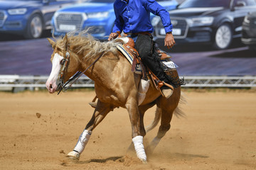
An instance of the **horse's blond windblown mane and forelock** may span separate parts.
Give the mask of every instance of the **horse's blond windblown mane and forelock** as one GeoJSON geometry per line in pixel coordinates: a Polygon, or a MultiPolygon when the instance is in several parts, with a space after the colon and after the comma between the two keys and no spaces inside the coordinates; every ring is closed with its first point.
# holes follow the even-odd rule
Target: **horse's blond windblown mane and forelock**
{"type": "MultiPolygon", "coordinates": [[[[60,50],[65,50],[65,38],[56,39],[56,45],[60,50]]],[[[82,31],[78,35],[68,33],[68,45],[77,55],[83,55],[84,59],[92,59],[97,55],[105,55],[107,52],[117,54],[117,45],[122,42],[107,41],[100,42],[88,34],[87,31],[82,31]]]]}

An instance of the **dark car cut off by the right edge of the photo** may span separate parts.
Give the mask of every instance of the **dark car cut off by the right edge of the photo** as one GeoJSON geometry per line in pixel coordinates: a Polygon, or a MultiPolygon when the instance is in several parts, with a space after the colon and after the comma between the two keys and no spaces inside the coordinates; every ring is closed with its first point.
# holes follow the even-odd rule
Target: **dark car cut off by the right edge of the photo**
{"type": "Polygon", "coordinates": [[[248,13],[242,22],[242,43],[256,52],[256,12],[248,13]]]}

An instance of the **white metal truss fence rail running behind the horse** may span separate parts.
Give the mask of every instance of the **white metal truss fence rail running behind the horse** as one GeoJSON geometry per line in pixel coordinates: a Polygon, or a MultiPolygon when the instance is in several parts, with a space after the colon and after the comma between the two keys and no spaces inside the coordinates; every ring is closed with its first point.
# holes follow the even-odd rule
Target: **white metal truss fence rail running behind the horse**
{"type": "MultiPolygon", "coordinates": [[[[0,75],[0,90],[11,88],[46,88],[45,76],[0,75]]],[[[183,87],[256,87],[256,77],[191,77],[185,76],[183,87]]],[[[80,77],[73,87],[94,87],[94,81],[88,77],[80,77]]]]}

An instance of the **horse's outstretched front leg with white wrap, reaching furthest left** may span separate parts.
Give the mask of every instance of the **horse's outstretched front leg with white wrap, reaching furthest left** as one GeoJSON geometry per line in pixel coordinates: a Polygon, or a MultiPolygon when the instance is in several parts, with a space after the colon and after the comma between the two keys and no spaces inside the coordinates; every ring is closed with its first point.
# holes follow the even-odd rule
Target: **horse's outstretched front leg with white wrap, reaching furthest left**
{"type": "Polygon", "coordinates": [[[68,157],[71,159],[78,159],[80,154],[82,154],[87,142],[90,139],[90,135],[92,134],[92,130],[96,128],[96,126],[105,118],[107,113],[112,111],[114,107],[110,106],[110,104],[97,102],[97,107],[92,115],[92,118],[89,123],[87,123],[85,130],[82,132],[78,139],[78,143],[75,145],[75,148],[72,152],[68,153],[68,157]]]}

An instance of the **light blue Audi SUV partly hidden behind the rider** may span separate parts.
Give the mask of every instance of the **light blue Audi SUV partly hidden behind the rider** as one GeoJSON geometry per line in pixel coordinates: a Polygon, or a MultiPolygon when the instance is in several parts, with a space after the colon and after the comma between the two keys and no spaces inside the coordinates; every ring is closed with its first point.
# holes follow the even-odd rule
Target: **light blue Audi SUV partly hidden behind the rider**
{"type": "MultiPolygon", "coordinates": [[[[70,31],[78,33],[89,28],[88,33],[92,36],[98,40],[107,40],[114,26],[114,1],[89,0],[82,4],[61,8],[52,18],[53,34],[62,36],[70,31]]],[[[176,0],[156,1],[168,11],[178,5],[176,0]]]]}

